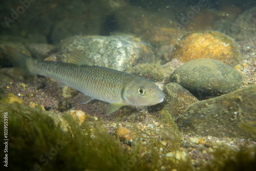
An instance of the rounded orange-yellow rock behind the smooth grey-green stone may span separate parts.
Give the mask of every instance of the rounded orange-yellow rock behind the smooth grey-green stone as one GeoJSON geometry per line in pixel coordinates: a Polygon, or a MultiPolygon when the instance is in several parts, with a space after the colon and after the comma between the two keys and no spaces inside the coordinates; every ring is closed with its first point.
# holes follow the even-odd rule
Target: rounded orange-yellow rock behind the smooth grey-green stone
{"type": "Polygon", "coordinates": [[[182,62],[211,58],[229,66],[236,66],[241,60],[236,42],[218,31],[199,31],[184,36],[176,45],[172,58],[179,58],[182,62]]]}

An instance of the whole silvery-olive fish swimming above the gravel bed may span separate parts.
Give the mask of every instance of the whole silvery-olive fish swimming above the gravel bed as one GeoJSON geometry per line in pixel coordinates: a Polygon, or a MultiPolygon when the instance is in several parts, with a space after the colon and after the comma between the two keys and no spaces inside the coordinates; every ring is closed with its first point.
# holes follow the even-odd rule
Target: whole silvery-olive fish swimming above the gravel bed
{"type": "Polygon", "coordinates": [[[82,52],[75,49],[68,62],[32,58],[5,46],[15,71],[21,75],[38,74],[53,78],[72,87],[84,96],[87,103],[93,99],[108,102],[106,114],[121,106],[150,106],[161,103],[165,94],[154,81],[122,71],[95,66],[82,52]]]}

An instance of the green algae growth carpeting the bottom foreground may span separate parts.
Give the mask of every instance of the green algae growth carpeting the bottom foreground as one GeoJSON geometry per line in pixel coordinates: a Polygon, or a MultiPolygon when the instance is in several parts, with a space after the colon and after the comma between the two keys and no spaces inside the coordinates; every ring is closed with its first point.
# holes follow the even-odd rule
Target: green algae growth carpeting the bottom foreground
{"type": "MultiPolygon", "coordinates": [[[[181,151],[183,135],[167,111],[160,112],[159,121],[164,124],[163,129],[152,130],[151,134],[135,131],[137,138],[130,150],[122,148],[120,141],[108,133],[102,121],[92,116],[87,116],[79,126],[68,113],[55,114],[20,104],[0,104],[1,133],[4,132],[4,112],[8,112],[10,170],[195,170],[189,156],[179,160],[165,155],[181,151]],[[153,138],[153,135],[158,138],[153,138]],[[144,137],[150,141],[141,141],[144,137]],[[166,141],[167,145],[161,141],[166,141]]],[[[212,162],[222,161],[221,150],[216,153],[219,157],[212,162]]],[[[244,150],[248,160],[239,160],[239,164],[249,164],[248,168],[253,160],[250,154],[256,150],[244,150]]],[[[232,154],[239,157],[240,152],[232,154]]],[[[229,161],[233,158],[221,166],[224,168],[229,161]]],[[[202,170],[205,167],[214,170],[210,169],[211,165],[202,166],[202,170]]]]}

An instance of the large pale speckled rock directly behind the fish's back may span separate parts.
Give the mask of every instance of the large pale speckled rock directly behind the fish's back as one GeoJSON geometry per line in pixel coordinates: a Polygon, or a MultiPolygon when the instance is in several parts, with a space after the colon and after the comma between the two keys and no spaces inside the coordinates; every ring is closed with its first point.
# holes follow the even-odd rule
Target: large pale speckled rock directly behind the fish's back
{"type": "Polygon", "coordinates": [[[77,48],[94,65],[123,71],[137,63],[150,62],[154,53],[150,47],[134,36],[75,36],[61,42],[63,61],[77,48]]]}

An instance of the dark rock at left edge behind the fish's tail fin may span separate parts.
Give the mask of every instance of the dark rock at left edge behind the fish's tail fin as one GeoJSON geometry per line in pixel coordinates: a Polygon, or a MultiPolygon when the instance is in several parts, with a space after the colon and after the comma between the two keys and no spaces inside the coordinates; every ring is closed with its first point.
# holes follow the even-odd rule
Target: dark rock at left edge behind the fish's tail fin
{"type": "Polygon", "coordinates": [[[12,63],[9,60],[9,56],[7,54],[7,51],[5,50],[6,45],[17,49],[18,51],[20,51],[22,53],[25,53],[26,55],[31,56],[31,53],[26,49],[26,47],[23,44],[1,41],[0,42],[0,68],[1,67],[11,67],[12,66],[12,63]]]}

